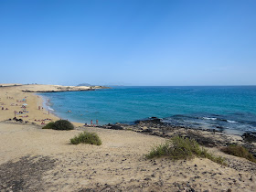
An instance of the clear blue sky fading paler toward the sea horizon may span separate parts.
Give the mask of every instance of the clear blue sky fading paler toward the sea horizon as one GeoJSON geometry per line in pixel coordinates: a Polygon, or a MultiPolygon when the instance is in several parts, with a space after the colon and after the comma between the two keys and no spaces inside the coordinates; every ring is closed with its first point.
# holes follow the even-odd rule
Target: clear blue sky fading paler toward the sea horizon
{"type": "Polygon", "coordinates": [[[256,85],[255,0],[0,0],[0,83],[256,85]]]}

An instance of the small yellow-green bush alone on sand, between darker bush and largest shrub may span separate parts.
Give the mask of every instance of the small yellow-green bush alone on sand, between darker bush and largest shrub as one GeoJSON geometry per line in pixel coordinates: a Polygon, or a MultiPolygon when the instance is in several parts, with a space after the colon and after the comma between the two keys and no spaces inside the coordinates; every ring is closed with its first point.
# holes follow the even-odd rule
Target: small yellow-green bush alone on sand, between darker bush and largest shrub
{"type": "Polygon", "coordinates": [[[75,136],[74,138],[70,139],[70,143],[101,145],[101,139],[97,133],[83,132],[83,133],[80,133],[78,136],[75,136]]]}

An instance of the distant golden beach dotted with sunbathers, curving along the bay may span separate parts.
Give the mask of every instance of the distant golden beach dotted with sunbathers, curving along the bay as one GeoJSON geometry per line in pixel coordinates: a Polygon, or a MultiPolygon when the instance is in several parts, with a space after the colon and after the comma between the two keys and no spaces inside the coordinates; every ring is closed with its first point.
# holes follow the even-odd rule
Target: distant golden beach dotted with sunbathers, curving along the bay
{"type": "MultiPolygon", "coordinates": [[[[16,114],[16,118],[22,119],[24,122],[41,124],[42,122],[49,123],[59,120],[59,117],[52,114],[51,111],[43,109],[43,100],[36,93],[23,92],[25,90],[57,91],[58,88],[58,85],[5,85],[5,87],[0,87],[0,121],[13,119],[15,111],[22,112],[23,110],[27,112],[16,114]],[[23,104],[25,104],[26,109],[22,108],[23,104]],[[8,110],[5,110],[6,108],[8,110]]],[[[75,123],[75,125],[81,125],[81,123],[75,123]]]]}

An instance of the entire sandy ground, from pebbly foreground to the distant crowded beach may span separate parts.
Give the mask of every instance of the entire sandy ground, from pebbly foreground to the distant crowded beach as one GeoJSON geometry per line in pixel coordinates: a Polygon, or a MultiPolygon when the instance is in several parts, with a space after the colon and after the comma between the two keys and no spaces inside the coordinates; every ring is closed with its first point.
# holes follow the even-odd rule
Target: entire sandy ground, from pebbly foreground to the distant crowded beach
{"type": "MultiPolygon", "coordinates": [[[[33,91],[42,91],[43,88],[41,85],[29,87],[33,91]]],[[[226,155],[219,151],[219,147],[208,150],[225,157],[227,166],[204,158],[146,159],[144,155],[152,146],[166,140],[155,135],[84,127],[80,123],[74,123],[76,129],[72,131],[43,130],[42,122],[59,118],[48,114],[45,109],[38,110],[42,99],[35,93],[24,92],[24,89],[28,90],[28,87],[0,87],[0,191],[256,189],[256,164],[226,155]],[[16,114],[23,123],[8,121],[14,118],[15,111],[26,111],[16,114]],[[69,144],[70,138],[85,130],[98,133],[102,145],[69,144]]],[[[50,89],[44,87],[44,91],[50,89]]]]}

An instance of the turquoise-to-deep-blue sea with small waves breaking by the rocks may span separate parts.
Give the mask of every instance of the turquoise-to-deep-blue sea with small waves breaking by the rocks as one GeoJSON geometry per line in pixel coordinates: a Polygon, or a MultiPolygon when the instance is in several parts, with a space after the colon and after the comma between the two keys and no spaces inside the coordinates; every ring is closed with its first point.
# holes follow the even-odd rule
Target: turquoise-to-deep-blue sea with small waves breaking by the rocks
{"type": "Polygon", "coordinates": [[[155,116],[194,128],[256,131],[256,86],[112,87],[40,95],[48,109],[73,122],[133,123],[155,116]]]}

